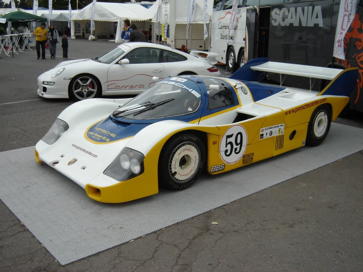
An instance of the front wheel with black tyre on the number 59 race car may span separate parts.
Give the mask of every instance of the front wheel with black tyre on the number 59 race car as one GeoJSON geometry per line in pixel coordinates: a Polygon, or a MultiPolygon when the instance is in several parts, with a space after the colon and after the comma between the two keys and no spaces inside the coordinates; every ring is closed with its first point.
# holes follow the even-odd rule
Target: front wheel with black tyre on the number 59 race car
{"type": "Polygon", "coordinates": [[[205,148],[200,138],[183,134],[167,142],[159,162],[159,182],[165,188],[191,186],[203,170],[205,148]]]}

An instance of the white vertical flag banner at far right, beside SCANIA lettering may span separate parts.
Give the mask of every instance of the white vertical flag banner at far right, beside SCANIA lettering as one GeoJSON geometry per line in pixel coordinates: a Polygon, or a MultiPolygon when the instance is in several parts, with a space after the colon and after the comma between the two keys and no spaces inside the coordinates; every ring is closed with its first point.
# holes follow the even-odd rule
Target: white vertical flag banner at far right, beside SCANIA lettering
{"type": "Polygon", "coordinates": [[[345,60],[344,36],[356,14],[357,0],[341,0],[335,32],[333,56],[345,60]]]}

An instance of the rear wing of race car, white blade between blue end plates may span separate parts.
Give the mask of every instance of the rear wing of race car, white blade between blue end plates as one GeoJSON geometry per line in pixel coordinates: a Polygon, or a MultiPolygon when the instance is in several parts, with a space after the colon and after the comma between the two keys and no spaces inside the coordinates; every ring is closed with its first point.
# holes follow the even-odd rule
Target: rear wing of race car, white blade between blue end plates
{"type": "Polygon", "coordinates": [[[248,61],[229,78],[241,81],[261,82],[266,77],[267,73],[279,74],[280,86],[282,86],[286,75],[309,78],[309,90],[311,90],[316,79],[332,81],[321,91],[321,93],[319,93],[319,95],[322,95],[323,93],[325,95],[334,93],[333,95],[349,96],[357,85],[358,68],[340,70],[301,64],[273,62],[268,61],[268,58],[263,57],[254,58],[248,61]],[[335,90],[332,89],[332,85],[334,85],[335,90]],[[326,92],[328,88],[329,92],[326,92]],[[339,94],[336,92],[339,92],[339,94]]]}

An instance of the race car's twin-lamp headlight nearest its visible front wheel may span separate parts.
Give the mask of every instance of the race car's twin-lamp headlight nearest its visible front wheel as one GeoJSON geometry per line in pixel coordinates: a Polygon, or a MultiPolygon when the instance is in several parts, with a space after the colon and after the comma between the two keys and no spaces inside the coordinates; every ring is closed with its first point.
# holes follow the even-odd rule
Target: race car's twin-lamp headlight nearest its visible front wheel
{"type": "Polygon", "coordinates": [[[117,181],[135,178],[144,171],[144,158],[139,151],[124,147],[103,173],[117,181]]]}

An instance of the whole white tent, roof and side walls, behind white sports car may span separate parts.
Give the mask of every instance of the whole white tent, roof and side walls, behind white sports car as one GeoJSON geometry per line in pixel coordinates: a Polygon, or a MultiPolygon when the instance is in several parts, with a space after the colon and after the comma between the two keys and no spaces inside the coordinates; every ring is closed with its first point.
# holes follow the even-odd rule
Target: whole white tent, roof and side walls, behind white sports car
{"type": "MultiPolygon", "coordinates": [[[[114,23],[117,22],[117,30],[115,41],[121,41],[121,29],[122,21],[129,19],[130,21],[143,21],[147,15],[148,9],[140,4],[125,4],[125,3],[105,3],[96,2],[94,10],[95,21],[95,35],[106,34],[109,37],[110,34],[114,34],[114,23]]],[[[71,18],[72,37],[74,36],[74,23],[79,23],[80,27],[84,29],[86,24],[91,20],[92,3],[79,10],[71,18]]],[[[148,15],[149,17],[149,15],[148,15]]],[[[85,31],[86,32],[86,31],[85,31]]],[[[89,33],[85,33],[85,35],[89,33]]],[[[85,36],[85,38],[87,38],[85,36]]]]}

